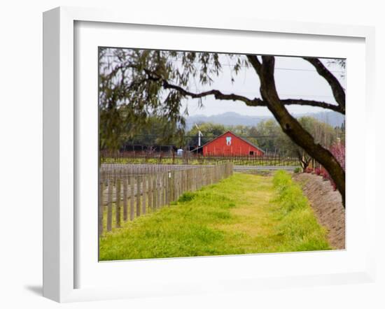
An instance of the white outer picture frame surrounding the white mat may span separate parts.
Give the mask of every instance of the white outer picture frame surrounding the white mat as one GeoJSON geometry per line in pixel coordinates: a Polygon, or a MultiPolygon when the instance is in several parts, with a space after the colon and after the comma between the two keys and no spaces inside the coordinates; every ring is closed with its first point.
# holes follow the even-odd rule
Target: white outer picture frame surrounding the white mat
{"type": "MultiPolygon", "coordinates": [[[[365,265],[351,268],[351,271],[327,271],[314,274],[311,267],[300,275],[267,275],[263,278],[251,275],[244,278],[240,274],[221,278],[221,280],[193,280],[192,282],[162,278],[162,288],[144,289],[130,285],[106,285],[106,287],[77,287],[76,275],[79,271],[76,259],[78,247],[76,240],[76,160],[78,137],[76,136],[76,94],[74,85],[76,55],[74,46],[76,22],[100,22],[116,25],[152,25],[162,27],[188,27],[189,29],[217,29],[218,31],[258,31],[266,35],[298,34],[302,36],[329,36],[332,38],[360,38],[365,44],[365,112],[367,119],[373,117],[374,99],[374,29],[372,27],[342,26],[335,24],[316,24],[298,22],[271,22],[263,20],[244,20],[241,18],[186,16],[161,16],[100,9],[61,7],[49,10],[43,15],[43,296],[59,302],[86,301],[97,299],[119,299],[151,295],[194,294],[200,292],[239,291],[261,287],[293,287],[306,285],[330,285],[349,282],[372,282],[375,275],[374,237],[368,238],[365,265]],[[372,239],[372,240],[370,240],[372,239]],[[362,266],[362,267],[361,267],[362,266]],[[168,281],[169,280],[169,281],[168,281]]],[[[348,60],[349,61],[349,60],[348,60]]],[[[96,65],[96,63],[95,63],[96,65]]],[[[348,69],[349,72],[349,69],[348,69]]],[[[349,78],[349,73],[348,73],[349,78]]],[[[349,98],[349,94],[348,94],[349,98]]],[[[349,120],[348,120],[349,121],[349,120]]],[[[367,122],[367,125],[373,125],[367,122]]],[[[367,153],[374,153],[374,134],[368,134],[370,127],[363,133],[367,153]]],[[[374,130],[372,130],[374,131],[374,130]]],[[[367,166],[367,161],[365,161],[367,166]]],[[[362,171],[365,180],[374,173],[369,168],[362,171]]],[[[348,172],[349,177],[349,172],[348,172]]],[[[374,177],[372,177],[374,179],[374,177]]],[[[366,182],[367,184],[367,182],[366,182]]],[[[362,214],[361,214],[362,215],[362,214]]],[[[365,187],[365,229],[367,234],[374,233],[375,200],[374,186],[365,187]]],[[[349,235],[348,235],[349,237],[349,235]]],[[[349,248],[348,248],[349,250],[349,248]]],[[[276,259],[277,254],[265,255],[263,259],[276,259]]],[[[311,255],[308,255],[310,258],[311,255]]],[[[179,266],[186,267],[200,258],[178,259],[179,266]]],[[[216,257],[222,263],[236,264],[241,257],[216,257]]],[[[248,256],[250,261],[255,256],[248,256]]],[[[307,259],[307,257],[305,257],[307,259]]],[[[330,257],[328,258],[330,259],[330,257]]],[[[202,261],[202,259],[201,259],[202,261]]],[[[208,263],[209,259],[206,259],[208,263]]],[[[243,261],[243,260],[242,260],[243,261]]],[[[143,264],[146,261],[141,261],[143,264]]],[[[172,261],[155,261],[154,270],[160,264],[172,261]],[[158,263],[158,264],[157,264],[158,263]]],[[[215,261],[214,261],[215,263],[215,261]]],[[[218,264],[218,263],[216,263],[218,264]]],[[[116,264],[118,265],[118,264],[116,264]]],[[[139,265],[139,264],[137,264],[139,265]]],[[[118,266],[115,266],[118,267],[118,266]]],[[[312,266],[314,268],[314,266],[312,266]]],[[[220,271],[221,268],[218,268],[220,271]]],[[[177,277],[175,277],[177,278],[177,277]]],[[[158,282],[159,284],[159,282],[158,282]]]]}

